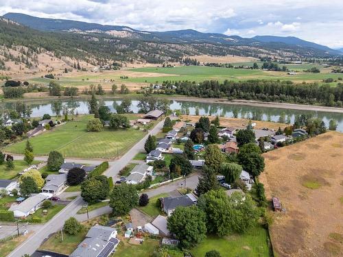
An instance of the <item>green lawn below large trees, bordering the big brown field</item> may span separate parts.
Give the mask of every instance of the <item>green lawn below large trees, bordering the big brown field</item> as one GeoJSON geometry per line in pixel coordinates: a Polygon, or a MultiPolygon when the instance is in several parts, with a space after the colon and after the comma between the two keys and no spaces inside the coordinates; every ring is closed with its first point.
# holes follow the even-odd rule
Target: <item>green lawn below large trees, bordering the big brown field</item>
{"type": "Polygon", "coordinates": [[[216,249],[222,257],[269,256],[268,232],[261,226],[252,228],[245,234],[225,237],[207,236],[199,245],[191,249],[195,257],[205,256],[206,252],[216,249]]]}

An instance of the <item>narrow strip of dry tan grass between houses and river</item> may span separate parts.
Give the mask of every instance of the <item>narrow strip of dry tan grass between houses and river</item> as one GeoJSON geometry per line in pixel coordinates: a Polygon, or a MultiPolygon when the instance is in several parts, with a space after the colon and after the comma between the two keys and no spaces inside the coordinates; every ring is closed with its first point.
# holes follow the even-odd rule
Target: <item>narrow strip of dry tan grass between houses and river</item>
{"type": "MultiPolygon", "coordinates": [[[[182,121],[190,121],[190,122],[197,122],[199,121],[201,116],[195,116],[195,115],[182,115],[181,119],[182,121]]],[[[215,119],[215,116],[209,116],[210,121],[215,119]]],[[[270,130],[278,130],[279,127],[281,129],[287,127],[287,124],[283,123],[276,123],[276,122],[269,122],[269,121],[252,121],[256,123],[255,128],[256,129],[262,129],[263,127],[268,127],[270,130]]],[[[246,128],[246,125],[248,125],[249,120],[248,119],[236,119],[236,118],[226,118],[226,117],[220,117],[220,126],[222,127],[237,127],[237,128],[246,128]]]]}

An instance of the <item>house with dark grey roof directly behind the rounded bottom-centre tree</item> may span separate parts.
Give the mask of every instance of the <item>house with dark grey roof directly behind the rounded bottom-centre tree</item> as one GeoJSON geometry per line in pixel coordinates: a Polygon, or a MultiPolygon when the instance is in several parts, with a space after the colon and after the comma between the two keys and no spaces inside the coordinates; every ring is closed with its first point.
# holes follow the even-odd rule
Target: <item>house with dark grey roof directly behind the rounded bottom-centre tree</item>
{"type": "Polygon", "coordinates": [[[192,194],[181,195],[178,197],[163,197],[160,198],[162,210],[170,216],[176,207],[192,206],[198,201],[192,194]]]}

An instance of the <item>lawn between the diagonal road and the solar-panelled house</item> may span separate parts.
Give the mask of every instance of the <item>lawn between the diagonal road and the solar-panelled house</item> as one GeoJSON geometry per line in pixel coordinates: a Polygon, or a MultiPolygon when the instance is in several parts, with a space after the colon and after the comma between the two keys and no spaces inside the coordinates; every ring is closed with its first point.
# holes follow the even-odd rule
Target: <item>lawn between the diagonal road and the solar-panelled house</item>
{"type": "Polygon", "coordinates": [[[59,233],[51,236],[47,241],[40,246],[39,249],[50,250],[53,252],[58,252],[60,254],[71,254],[76,247],[84,240],[87,234],[87,230],[82,230],[82,232],[70,235],[63,233],[63,241],[61,241],[61,236],[59,233]]]}

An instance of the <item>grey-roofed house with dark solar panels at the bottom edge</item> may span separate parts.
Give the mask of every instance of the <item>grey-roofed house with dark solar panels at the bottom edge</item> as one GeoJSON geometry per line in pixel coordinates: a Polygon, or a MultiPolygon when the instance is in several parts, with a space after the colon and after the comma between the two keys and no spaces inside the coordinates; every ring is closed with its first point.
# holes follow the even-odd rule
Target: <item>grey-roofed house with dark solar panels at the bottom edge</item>
{"type": "Polygon", "coordinates": [[[95,225],[70,257],[108,257],[115,252],[118,244],[115,228],[95,225]]]}

